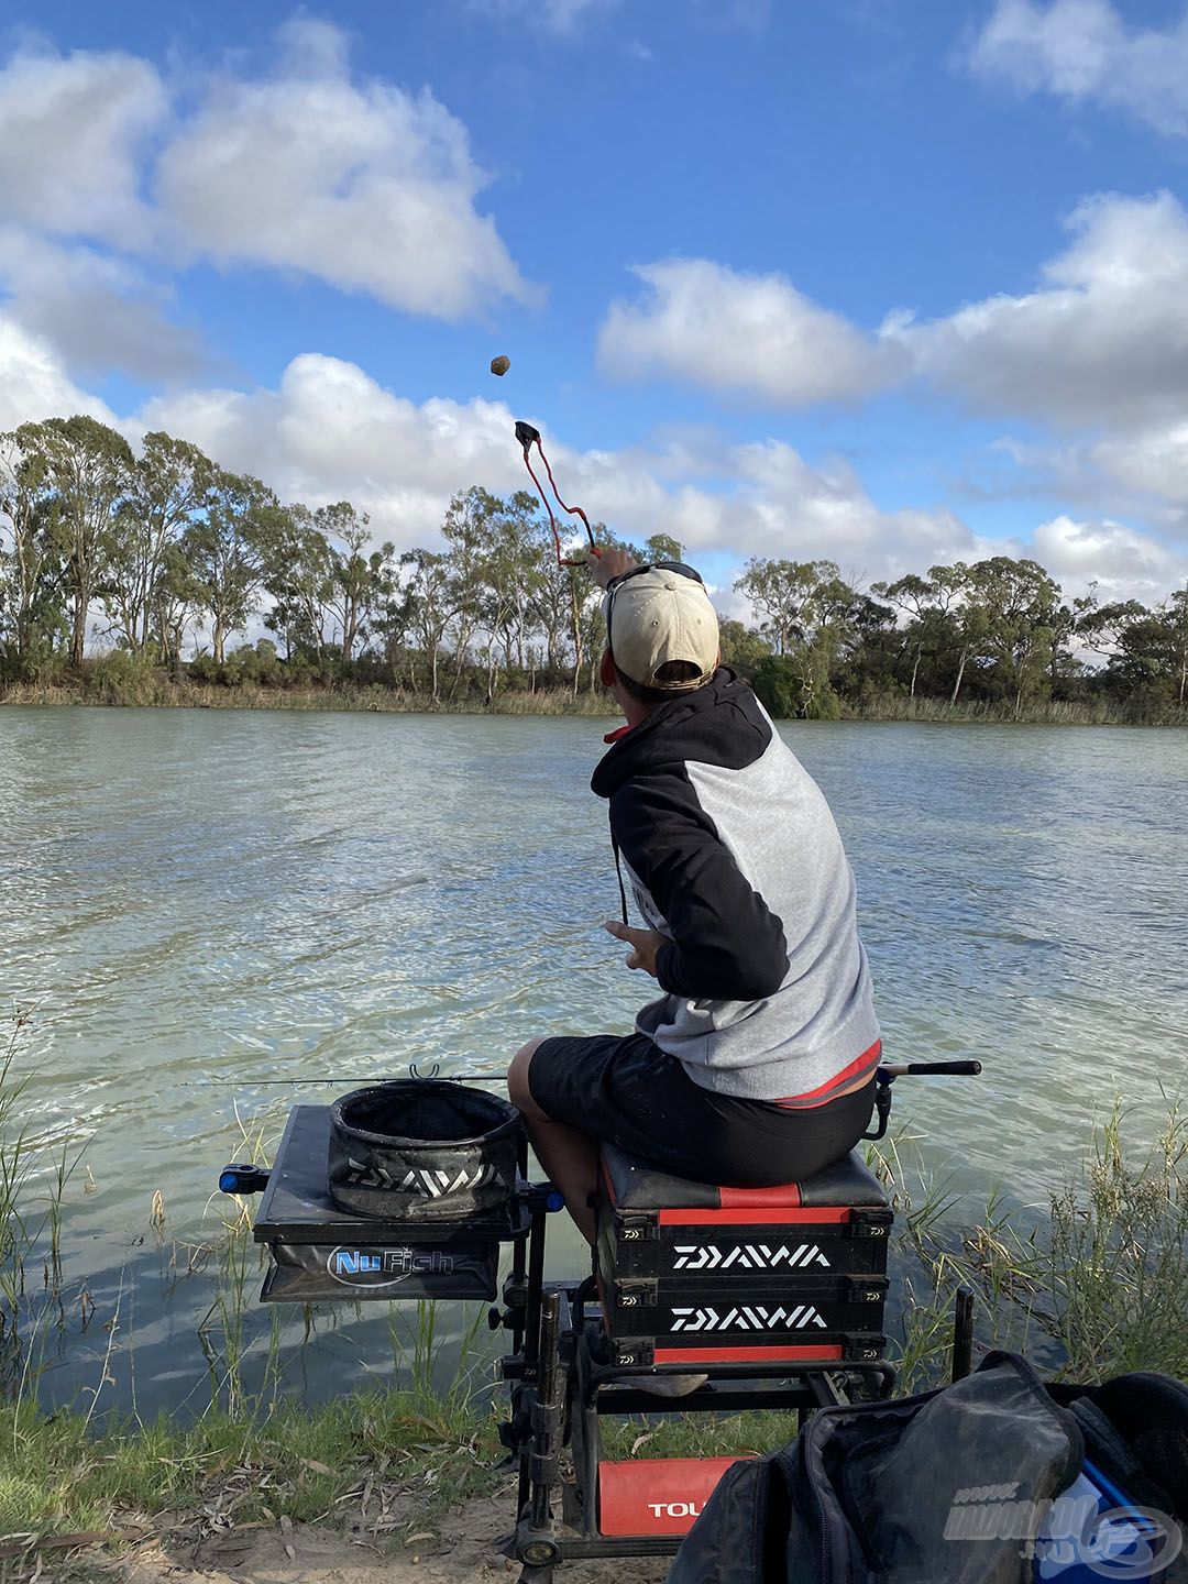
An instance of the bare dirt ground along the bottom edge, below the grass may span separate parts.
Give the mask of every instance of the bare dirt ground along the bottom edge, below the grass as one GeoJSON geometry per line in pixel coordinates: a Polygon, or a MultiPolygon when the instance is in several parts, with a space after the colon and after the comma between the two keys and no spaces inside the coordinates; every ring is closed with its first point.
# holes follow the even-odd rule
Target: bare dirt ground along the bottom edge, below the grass
{"type": "MultiPolygon", "coordinates": [[[[312,1524],[236,1525],[196,1533],[163,1524],[101,1571],[122,1584],[515,1584],[520,1565],[496,1554],[510,1527],[510,1492],[482,1497],[439,1519],[436,1533],[404,1544],[375,1544],[366,1529],[331,1530],[312,1524]]],[[[93,1555],[93,1554],[92,1554],[93,1555]]],[[[567,1562],[558,1584],[662,1584],[670,1559],[567,1562]]],[[[44,1578],[44,1574],[43,1574],[44,1578]]]]}

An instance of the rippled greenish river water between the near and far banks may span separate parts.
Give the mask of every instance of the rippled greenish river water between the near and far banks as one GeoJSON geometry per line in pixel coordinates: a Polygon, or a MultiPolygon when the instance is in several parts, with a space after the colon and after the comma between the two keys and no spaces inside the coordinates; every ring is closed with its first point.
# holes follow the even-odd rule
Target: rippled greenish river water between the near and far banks
{"type": "MultiPolygon", "coordinates": [[[[648,985],[599,930],[618,911],[588,787],[605,727],[0,711],[0,987],[6,1011],[32,1009],[22,1115],[71,1158],[86,1147],[46,1400],[209,1402],[214,1182],[291,1102],[412,1061],[499,1074],[532,1034],[629,1026],[648,985]]],[[[897,1087],[927,1167],[1025,1213],[1115,1096],[1150,1137],[1183,1077],[1188,733],[781,730],[857,871],[889,1057],[985,1064],[897,1087]]],[[[553,1267],[580,1269],[553,1224],[553,1267]]],[[[269,1321],[246,1316],[249,1376],[269,1321]]],[[[382,1376],[393,1346],[371,1305],[322,1315],[312,1340],[287,1318],[280,1359],[326,1396],[382,1376]]]]}

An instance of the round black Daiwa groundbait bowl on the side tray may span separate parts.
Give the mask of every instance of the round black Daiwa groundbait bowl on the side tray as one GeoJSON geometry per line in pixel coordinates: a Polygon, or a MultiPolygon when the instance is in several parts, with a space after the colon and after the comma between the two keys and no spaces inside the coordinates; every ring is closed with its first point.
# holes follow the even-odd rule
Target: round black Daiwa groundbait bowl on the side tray
{"type": "Polygon", "coordinates": [[[329,1107],[329,1196],[352,1215],[445,1224],[515,1193],[523,1118],[445,1079],[396,1079],[329,1107]]]}

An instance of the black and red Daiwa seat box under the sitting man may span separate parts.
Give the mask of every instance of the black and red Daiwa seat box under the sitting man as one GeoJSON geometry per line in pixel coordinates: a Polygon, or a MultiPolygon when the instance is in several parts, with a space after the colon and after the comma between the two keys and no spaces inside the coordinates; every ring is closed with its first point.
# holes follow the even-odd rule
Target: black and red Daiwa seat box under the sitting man
{"type": "Polygon", "coordinates": [[[803,1183],[719,1188],[604,1145],[597,1275],[615,1364],[876,1361],[892,1210],[851,1155],[803,1183]]]}

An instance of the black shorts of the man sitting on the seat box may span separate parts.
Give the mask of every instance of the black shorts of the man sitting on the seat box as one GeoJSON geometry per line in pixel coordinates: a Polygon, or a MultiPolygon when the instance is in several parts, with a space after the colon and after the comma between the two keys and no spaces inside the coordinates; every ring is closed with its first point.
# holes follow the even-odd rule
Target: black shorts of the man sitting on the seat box
{"type": "Polygon", "coordinates": [[[673,1177],[725,1188],[803,1182],[841,1159],[870,1126],[874,1096],[873,1079],[811,1110],[718,1095],[646,1034],[545,1039],[527,1087],[553,1121],[673,1177]]]}

